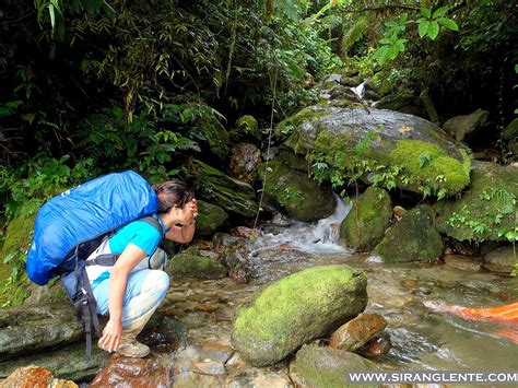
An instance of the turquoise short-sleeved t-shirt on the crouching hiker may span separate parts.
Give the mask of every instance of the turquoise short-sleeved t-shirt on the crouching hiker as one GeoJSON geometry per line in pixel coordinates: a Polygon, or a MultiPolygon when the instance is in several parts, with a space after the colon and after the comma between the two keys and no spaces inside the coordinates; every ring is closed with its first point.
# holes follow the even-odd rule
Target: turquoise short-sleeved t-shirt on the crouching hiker
{"type": "Polygon", "coordinates": [[[150,256],[158,246],[161,237],[160,232],[153,225],[145,221],[133,221],[122,226],[109,238],[109,249],[111,254],[119,255],[128,244],[132,243],[150,256]]]}

